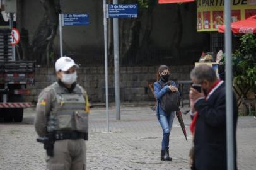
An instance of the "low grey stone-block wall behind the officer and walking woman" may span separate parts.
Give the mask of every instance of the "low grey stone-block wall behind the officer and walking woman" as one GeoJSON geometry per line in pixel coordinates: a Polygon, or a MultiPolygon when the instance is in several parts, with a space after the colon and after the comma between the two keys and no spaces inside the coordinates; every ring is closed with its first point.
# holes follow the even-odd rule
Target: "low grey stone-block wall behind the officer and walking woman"
{"type": "MultiPolygon", "coordinates": [[[[157,67],[120,67],[120,97],[121,101],[154,101],[153,94],[148,89],[148,83],[156,79],[157,67]]],[[[174,81],[189,79],[192,66],[172,66],[171,79],[174,81]]],[[[114,98],[113,67],[108,68],[110,102],[114,98]]],[[[35,72],[35,86],[28,86],[32,90],[25,100],[36,102],[38,94],[45,87],[56,80],[53,68],[37,68],[35,72]]],[[[78,83],[83,86],[91,102],[105,101],[105,69],[104,67],[84,67],[78,69],[78,83]]]]}

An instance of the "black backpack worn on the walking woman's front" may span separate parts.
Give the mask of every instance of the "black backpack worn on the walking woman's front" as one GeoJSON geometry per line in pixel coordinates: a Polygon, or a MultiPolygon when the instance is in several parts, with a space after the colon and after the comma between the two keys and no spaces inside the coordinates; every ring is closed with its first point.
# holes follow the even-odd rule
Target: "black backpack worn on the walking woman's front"
{"type": "MultiPolygon", "coordinates": [[[[165,84],[162,84],[160,81],[158,83],[162,86],[170,86],[172,84],[172,81],[166,82],[165,84]]],[[[172,92],[168,91],[167,93],[163,94],[161,97],[160,106],[165,111],[165,113],[170,113],[171,111],[177,111],[179,110],[180,106],[180,93],[178,91],[172,92]]]]}

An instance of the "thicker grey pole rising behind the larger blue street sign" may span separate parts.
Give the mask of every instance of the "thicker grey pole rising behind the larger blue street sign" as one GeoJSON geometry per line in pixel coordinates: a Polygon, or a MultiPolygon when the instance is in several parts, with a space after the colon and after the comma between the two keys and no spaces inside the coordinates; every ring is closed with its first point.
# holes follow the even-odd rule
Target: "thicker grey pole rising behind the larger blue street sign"
{"type": "MultiPolygon", "coordinates": [[[[113,0],[113,4],[118,4],[117,0],[113,0]]],[[[121,120],[120,115],[120,77],[119,77],[119,21],[118,18],[113,18],[113,48],[115,58],[115,110],[117,111],[116,118],[121,120]]]]}

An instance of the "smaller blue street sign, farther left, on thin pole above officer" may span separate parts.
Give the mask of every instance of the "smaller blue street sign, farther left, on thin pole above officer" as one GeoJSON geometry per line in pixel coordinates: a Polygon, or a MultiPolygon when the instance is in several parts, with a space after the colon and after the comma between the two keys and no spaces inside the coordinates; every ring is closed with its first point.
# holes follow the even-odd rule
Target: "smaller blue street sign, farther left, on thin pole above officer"
{"type": "Polygon", "coordinates": [[[90,24],[89,14],[62,14],[62,15],[63,15],[62,26],[90,24]]]}

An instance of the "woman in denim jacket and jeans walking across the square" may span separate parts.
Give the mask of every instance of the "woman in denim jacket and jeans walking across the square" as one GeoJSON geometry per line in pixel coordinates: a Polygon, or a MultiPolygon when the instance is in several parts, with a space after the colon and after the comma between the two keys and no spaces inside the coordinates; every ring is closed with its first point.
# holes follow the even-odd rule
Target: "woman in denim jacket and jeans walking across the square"
{"type": "Polygon", "coordinates": [[[163,129],[163,139],[161,147],[161,160],[163,161],[172,161],[172,157],[169,156],[169,137],[172,130],[173,119],[175,116],[174,111],[166,113],[161,108],[161,98],[168,91],[178,91],[177,85],[174,81],[169,81],[170,69],[166,65],[161,65],[156,74],[156,82],[154,82],[154,95],[157,99],[156,105],[156,116],[158,121],[163,129]],[[164,84],[170,82],[166,86],[164,84]]]}

